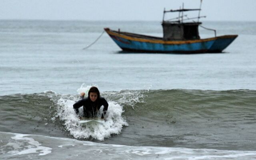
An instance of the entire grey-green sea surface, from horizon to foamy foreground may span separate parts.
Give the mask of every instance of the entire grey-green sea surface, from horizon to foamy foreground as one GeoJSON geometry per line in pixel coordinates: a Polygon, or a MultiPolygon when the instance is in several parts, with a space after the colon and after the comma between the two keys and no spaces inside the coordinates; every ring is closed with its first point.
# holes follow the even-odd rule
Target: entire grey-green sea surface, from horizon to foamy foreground
{"type": "Polygon", "coordinates": [[[104,33],[83,50],[105,27],[162,26],[0,20],[0,159],[255,159],[256,22],[203,24],[238,38],[218,54],[143,54],[104,33]],[[80,126],[72,105],[90,86],[106,123],[80,126]]]}

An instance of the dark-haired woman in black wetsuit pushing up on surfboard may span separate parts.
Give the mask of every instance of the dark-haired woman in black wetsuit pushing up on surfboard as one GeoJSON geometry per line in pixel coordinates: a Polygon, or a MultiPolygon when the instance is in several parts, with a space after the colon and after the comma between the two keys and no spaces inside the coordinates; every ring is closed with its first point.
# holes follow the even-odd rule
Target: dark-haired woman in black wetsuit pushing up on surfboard
{"type": "Polygon", "coordinates": [[[98,88],[93,86],[88,92],[88,97],[84,98],[84,95],[85,93],[82,92],[80,96],[81,100],[73,105],[76,114],[79,115],[78,108],[84,106],[84,116],[86,118],[97,117],[100,107],[103,105],[104,108],[101,118],[104,118],[104,115],[108,110],[108,102],[105,100],[105,98],[100,96],[100,91],[98,88]]]}

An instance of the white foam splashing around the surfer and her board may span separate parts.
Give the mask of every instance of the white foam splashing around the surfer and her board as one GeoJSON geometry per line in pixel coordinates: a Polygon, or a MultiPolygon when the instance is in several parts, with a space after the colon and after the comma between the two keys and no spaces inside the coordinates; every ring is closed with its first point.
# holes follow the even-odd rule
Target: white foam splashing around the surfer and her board
{"type": "MultiPolygon", "coordinates": [[[[91,86],[84,86],[84,84],[77,90],[78,94],[81,92],[88,92],[91,86]]],[[[82,126],[79,124],[78,116],[75,114],[73,104],[78,101],[78,98],[72,99],[66,95],[60,97],[57,102],[56,117],[59,117],[63,121],[63,124],[74,138],[95,138],[97,140],[104,140],[104,138],[110,137],[111,134],[120,134],[122,126],[128,126],[125,118],[122,116],[124,112],[122,106],[114,101],[108,101],[108,111],[104,117],[106,122],[104,124],[86,124],[82,126]]],[[[100,112],[102,113],[103,107],[100,112]]],[[[82,112],[83,108],[79,108],[82,112]]]]}

